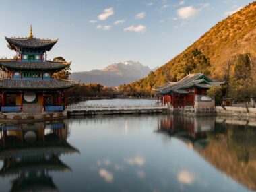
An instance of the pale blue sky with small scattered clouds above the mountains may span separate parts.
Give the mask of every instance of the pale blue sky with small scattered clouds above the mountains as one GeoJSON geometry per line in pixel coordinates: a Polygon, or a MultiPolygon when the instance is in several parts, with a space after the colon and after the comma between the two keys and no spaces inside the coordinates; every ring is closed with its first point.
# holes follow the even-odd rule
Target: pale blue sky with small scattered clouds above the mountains
{"type": "Polygon", "coordinates": [[[3,1],[0,56],[13,57],[5,36],[59,39],[49,59],[63,56],[72,71],[119,61],[164,65],[247,0],[26,0],[3,1]]]}

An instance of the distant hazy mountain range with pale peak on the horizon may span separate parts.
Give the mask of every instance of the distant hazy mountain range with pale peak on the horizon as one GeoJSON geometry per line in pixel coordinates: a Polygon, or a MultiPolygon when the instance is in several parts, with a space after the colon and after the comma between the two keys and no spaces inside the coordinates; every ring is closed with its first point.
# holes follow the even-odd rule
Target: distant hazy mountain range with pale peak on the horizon
{"type": "MultiPolygon", "coordinates": [[[[155,69],[157,67],[152,70],[155,69]]],[[[73,81],[80,81],[84,84],[99,83],[104,86],[116,87],[146,77],[152,70],[139,62],[125,61],[113,63],[101,70],[74,72],[69,77],[73,81]]]]}

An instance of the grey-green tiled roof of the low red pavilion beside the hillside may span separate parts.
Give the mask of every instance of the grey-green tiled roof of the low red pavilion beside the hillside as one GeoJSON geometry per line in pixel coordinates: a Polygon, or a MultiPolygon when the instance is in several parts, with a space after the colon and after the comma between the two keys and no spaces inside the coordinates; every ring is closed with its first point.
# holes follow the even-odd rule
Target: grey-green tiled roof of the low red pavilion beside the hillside
{"type": "Polygon", "coordinates": [[[224,84],[224,82],[217,82],[209,79],[203,73],[189,74],[178,82],[168,82],[163,86],[159,86],[156,89],[158,94],[167,94],[174,92],[178,94],[187,94],[187,88],[210,88],[211,86],[218,86],[224,84]]]}

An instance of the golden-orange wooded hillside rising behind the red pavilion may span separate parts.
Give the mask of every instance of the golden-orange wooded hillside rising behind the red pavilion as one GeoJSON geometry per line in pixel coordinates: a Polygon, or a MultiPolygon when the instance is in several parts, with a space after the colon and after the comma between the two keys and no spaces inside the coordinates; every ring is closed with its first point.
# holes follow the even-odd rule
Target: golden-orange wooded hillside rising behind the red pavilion
{"type": "Polygon", "coordinates": [[[256,2],[253,2],[218,22],[185,51],[155,72],[150,72],[148,77],[133,82],[129,86],[150,92],[152,88],[168,81],[176,81],[188,73],[199,72],[210,75],[214,79],[224,79],[231,84],[231,80],[234,81],[238,77],[234,75],[239,73],[237,71],[239,67],[236,65],[247,66],[247,61],[250,66],[246,75],[253,79],[255,75],[251,74],[255,71],[255,58],[256,2]],[[245,63],[241,64],[242,60],[245,63]]]}

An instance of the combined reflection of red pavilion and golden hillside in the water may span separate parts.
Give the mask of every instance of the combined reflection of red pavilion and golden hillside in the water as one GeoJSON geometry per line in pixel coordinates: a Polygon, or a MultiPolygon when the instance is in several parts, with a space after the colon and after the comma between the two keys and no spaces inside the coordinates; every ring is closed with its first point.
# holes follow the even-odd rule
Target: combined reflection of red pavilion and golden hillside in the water
{"type": "Polygon", "coordinates": [[[212,166],[248,188],[256,189],[255,127],[179,115],[160,119],[157,132],[185,141],[212,166]]]}

